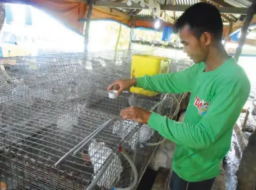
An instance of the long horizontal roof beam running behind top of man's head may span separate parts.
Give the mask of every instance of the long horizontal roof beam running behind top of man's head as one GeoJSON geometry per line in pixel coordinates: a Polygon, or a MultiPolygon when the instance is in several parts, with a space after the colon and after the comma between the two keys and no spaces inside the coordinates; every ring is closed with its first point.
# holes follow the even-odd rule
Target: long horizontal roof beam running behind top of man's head
{"type": "MultiPolygon", "coordinates": [[[[94,6],[96,7],[113,7],[121,9],[148,9],[147,6],[141,7],[139,4],[132,4],[128,6],[126,3],[115,3],[115,2],[102,2],[96,1],[94,6]]],[[[185,11],[190,6],[185,5],[161,5],[162,11],[185,11]]],[[[248,8],[237,8],[237,7],[217,7],[220,13],[225,14],[237,14],[246,15],[248,8]]]]}

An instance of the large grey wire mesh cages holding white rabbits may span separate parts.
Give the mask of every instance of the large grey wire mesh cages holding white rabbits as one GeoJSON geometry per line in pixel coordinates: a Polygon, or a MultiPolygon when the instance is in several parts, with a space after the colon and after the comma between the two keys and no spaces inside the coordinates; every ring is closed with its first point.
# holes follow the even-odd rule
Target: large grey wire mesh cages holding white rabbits
{"type": "Polygon", "coordinates": [[[8,189],[138,185],[161,136],[120,119],[120,110],[134,105],[172,117],[178,103],[173,95],[128,92],[108,98],[110,83],[130,78],[131,55],[56,53],[0,60],[0,181],[8,189]]]}

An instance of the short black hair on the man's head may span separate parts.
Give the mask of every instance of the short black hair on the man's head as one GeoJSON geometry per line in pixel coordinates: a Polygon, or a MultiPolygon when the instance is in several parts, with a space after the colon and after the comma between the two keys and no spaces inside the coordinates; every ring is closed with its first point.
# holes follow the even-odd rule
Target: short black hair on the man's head
{"type": "Polygon", "coordinates": [[[223,23],[219,10],[209,3],[196,3],[186,9],[176,23],[174,32],[177,34],[188,25],[195,37],[199,39],[203,32],[211,33],[216,40],[222,39],[223,23]]]}

